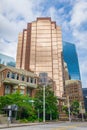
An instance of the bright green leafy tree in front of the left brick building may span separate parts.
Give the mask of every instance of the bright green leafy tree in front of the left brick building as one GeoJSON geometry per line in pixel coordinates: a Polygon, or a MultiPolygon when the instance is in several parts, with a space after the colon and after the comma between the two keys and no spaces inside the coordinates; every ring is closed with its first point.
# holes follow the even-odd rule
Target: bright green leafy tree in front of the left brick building
{"type": "MultiPolygon", "coordinates": [[[[29,119],[35,115],[31,101],[32,98],[19,92],[0,97],[0,110],[5,106],[16,104],[18,106],[17,119],[29,119]]],[[[34,100],[34,99],[33,99],[34,100]]]]}

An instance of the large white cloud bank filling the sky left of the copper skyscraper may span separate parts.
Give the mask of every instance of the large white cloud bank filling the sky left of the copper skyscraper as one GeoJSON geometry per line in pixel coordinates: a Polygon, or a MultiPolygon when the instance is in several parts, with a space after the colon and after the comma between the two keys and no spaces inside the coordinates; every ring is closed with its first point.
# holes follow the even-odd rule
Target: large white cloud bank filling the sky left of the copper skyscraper
{"type": "Polygon", "coordinates": [[[0,0],[0,52],[16,58],[18,33],[41,14],[43,0],[0,0]],[[40,8],[41,9],[41,8],[40,8]],[[6,41],[8,41],[6,43],[6,41]]]}

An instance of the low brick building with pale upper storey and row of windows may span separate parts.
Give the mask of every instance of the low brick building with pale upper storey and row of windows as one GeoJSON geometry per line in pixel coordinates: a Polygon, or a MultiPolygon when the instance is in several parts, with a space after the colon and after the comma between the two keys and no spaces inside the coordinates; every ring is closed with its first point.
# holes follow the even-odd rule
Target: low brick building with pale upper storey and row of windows
{"type": "Polygon", "coordinates": [[[33,96],[37,88],[37,75],[32,71],[16,69],[0,64],[0,96],[20,91],[33,96]]]}

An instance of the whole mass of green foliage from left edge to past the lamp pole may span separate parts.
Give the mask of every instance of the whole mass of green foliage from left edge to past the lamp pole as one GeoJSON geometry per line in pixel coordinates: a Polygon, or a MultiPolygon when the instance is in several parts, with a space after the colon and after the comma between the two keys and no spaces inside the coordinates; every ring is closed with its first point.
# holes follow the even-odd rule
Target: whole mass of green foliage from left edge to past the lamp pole
{"type": "MultiPolygon", "coordinates": [[[[46,97],[46,119],[58,119],[58,106],[57,97],[54,96],[50,86],[46,87],[45,91],[46,97]]],[[[34,122],[38,120],[38,110],[39,110],[39,121],[42,121],[43,117],[43,88],[38,87],[35,98],[31,98],[28,95],[22,95],[19,92],[0,96],[0,110],[3,110],[8,105],[17,105],[17,119],[21,122],[34,122]],[[32,101],[34,101],[32,103],[32,101]]],[[[2,112],[2,111],[0,111],[2,112]]],[[[13,113],[13,115],[15,115],[13,113]]]]}

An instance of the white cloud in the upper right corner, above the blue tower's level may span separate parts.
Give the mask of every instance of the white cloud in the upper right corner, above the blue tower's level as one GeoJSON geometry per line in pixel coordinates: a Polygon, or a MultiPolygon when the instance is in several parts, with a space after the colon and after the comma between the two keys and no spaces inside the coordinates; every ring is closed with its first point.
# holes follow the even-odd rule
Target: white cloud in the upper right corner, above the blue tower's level
{"type": "Polygon", "coordinates": [[[87,23],[87,1],[86,0],[76,0],[71,13],[70,26],[72,28],[72,34],[76,39],[76,44],[80,48],[87,49],[87,30],[82,30],[84,28],[84,23],[87,23]]]}

